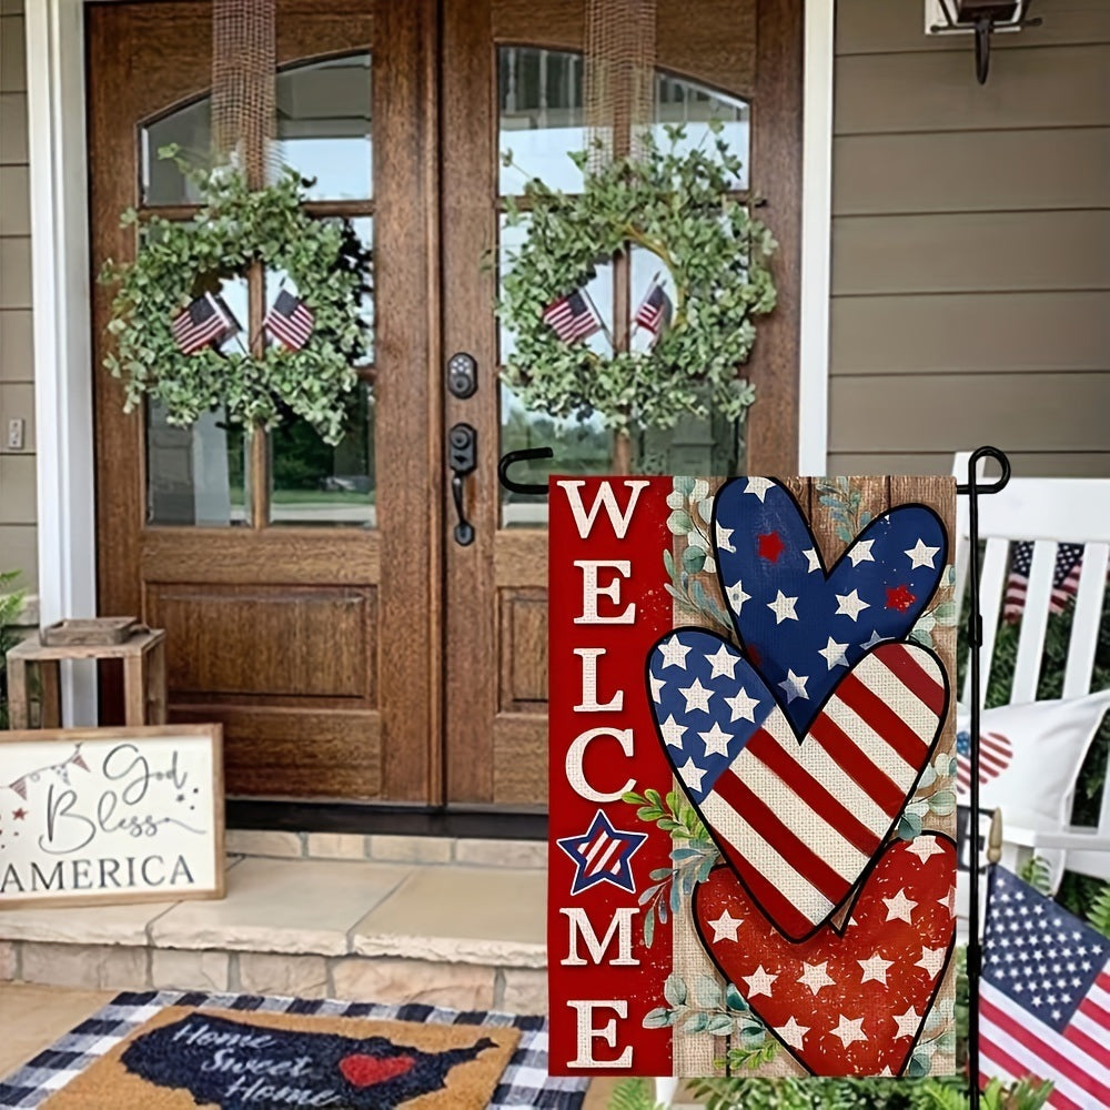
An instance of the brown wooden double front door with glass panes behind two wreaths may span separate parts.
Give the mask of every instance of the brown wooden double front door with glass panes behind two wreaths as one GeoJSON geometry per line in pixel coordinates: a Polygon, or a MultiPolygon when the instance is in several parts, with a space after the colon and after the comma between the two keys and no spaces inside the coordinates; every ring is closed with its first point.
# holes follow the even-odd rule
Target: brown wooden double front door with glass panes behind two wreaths
{"type": "MultiPolygon", "coordinates": [[[[747,167],[737,190],[766,198],[781,244],[779,309],[750,366],[759,401],[743,435],[686,422],[635,446],[673,470],[790,473],[801,3],[659,0],[657,20],[658,121],[686,123],[689,141],[723,121],[747,167]]],[[[502,490],[497,462],[551,445],[561,472],[604,471],[613,445],[498,384],[512,336],[493,306],[519,235],[505,199],[524,180],[500,155],[576,188],[566,154],[583,144],[585,22],[584,0],[279,0],[276,148],[312,179],[313,214],[352,220],[373,246],[373,354],[339,447],[295,421],[263,434],[220,412],[184,430],[153,405],[125,414],[101,367],[111,290],[94,294],[99,607],[168,629],[171,719],[223,722],[233,795],[544,803],[545,507],[502,490]],[[460,353],[473,360],[468,395],[448,381],[460,353]],[[465,546],[448,465],[458,424],[477,464],[463,480],[465,546]]],[[[196,212],[159,151],[209,155],[212,12],[208,0],[90,4],[87,32],[99,270],[133,256],[122,210],[196,212]]],[[[630,269],[635,297],[650,275],[630,269]]],[[[226,343],[256,331],[282,279],[225,275],[244,325],[226,343]]]]}

